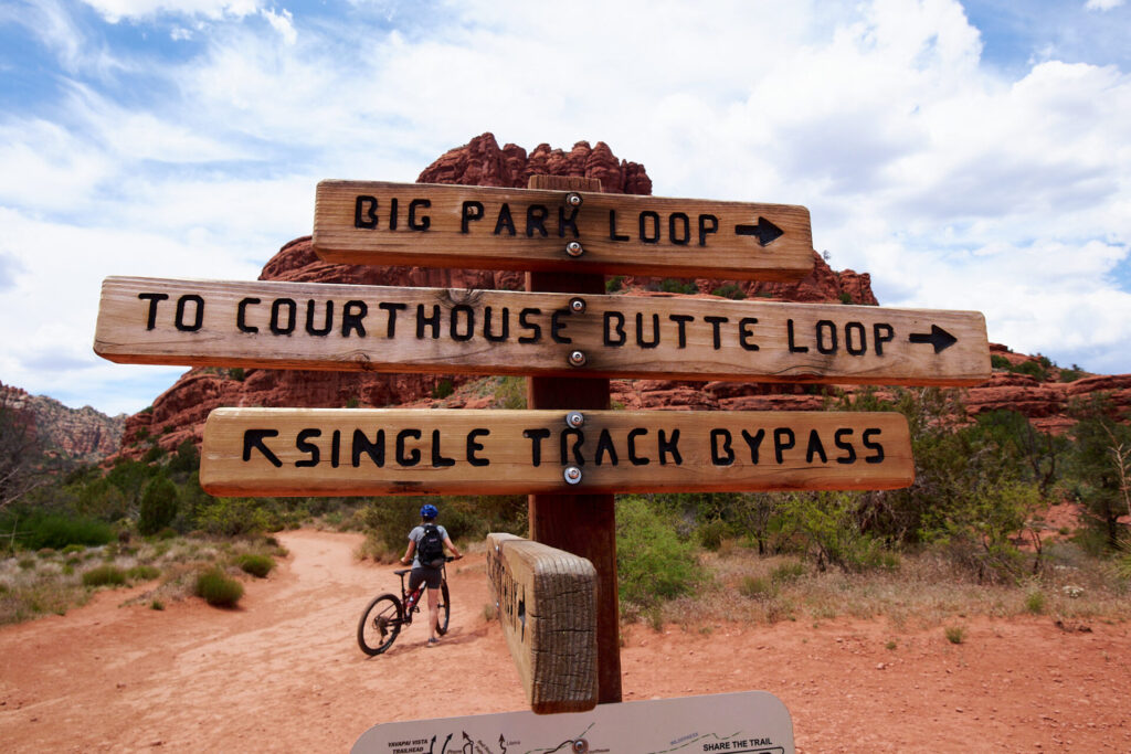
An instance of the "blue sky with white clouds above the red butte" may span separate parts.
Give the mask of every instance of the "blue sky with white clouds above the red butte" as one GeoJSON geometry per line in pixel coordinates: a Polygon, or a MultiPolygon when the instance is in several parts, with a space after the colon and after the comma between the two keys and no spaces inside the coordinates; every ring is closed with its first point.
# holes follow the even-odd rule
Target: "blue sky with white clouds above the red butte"
{"type": "Polygon", "coordinates": [[[321,179],[606,141],[658,196],[800,203],[882,305],[1131,372],[1124,0],[0,0],[0,380],[107,413],[109,275],[254,279],[321,179]]]}

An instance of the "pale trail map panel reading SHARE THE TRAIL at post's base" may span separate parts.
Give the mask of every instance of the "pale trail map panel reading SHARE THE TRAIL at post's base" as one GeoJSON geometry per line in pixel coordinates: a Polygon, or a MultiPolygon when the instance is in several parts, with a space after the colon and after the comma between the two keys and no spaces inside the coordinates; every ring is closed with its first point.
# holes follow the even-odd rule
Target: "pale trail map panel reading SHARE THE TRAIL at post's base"
{"type": "Polygon", "coordinates": [[[793,720],[765,691],[599,704],[588,712],[501,712],[374,726],[353,754],[793,754],[793,720]]]}

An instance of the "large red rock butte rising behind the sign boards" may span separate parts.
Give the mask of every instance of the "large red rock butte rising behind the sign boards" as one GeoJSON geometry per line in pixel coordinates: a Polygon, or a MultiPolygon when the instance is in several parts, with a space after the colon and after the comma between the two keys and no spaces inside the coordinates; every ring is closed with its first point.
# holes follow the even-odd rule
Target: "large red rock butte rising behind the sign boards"
{"type": "MultiPolygon", "coordinates": [[[[571,175],[596,177],[604,191],[649,194],[651,180],[642,165],[619,159],[602,141],[590,147],[579,141],[569,151],[538,145],[527,154],[515,145],[500,147],[490,133],[452,149],[425,168],[422,183],[457,183],[523,188],[530,175],[571,175]]],[[[727,295],[795,302],[845,302],[875,305],[871,278],[866,272],[832,270],[819,254],[813,254],[813,271],[796,284],[756,283],[719,279],[689,281],[700,295],[725,291],[727,295]]],[[[422,267],[374,267],[335,265],[314,255],[310,237],[285,244],[267,262],[262,280],[304,283],[346,283],[411,287],[454,287],[480,289],[520,289],[523,274],[491,270],[448,270],[422,267]]],[[[661,280],[622,277],[616,286],[625,292],[657,289],[661,280]]],[[[1027,356],[1009,354],[1003,346],[995,353],[1008,354],[1015,362],[1027,356]]],[[[193,369],[154,400],[152,410],[129,417],[122,439],[122,452],[139,457],[145,448],[140,436],[152,436],[172,450],[184,440],[199,442],[204,422],[221,406],[343,407],[444,405],[483,407],[487,398],[466,398],[459,393],[442,398],[475,378],[432,374],[359,374],[319,371],[193,369]],[[435,398],[433,398],[435,396],[435,398]]],[[[1116,405],[1131,407],[1131,376],[1089,378],[1073,383],[1042,382],[1012,372],[995,372],[984,385],[966,392],[972,415],[995,408],[1013,408],[1044,428],[1062,430],[1068,401],[1081,395],[1104,390],[1113,393],[1116,405]]],[[[736,382],[676,382],[670,380],[614,380],[613,400],[627,408],[687,409],[815,409],[822,399],[812,387],[736,382]]]]}

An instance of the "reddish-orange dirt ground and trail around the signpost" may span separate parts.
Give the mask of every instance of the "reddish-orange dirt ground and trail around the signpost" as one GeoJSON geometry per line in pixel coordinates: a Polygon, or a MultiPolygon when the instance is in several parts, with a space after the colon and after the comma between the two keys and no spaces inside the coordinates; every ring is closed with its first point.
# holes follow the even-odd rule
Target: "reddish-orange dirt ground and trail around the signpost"
{"type": "MultiPolygon", "coordinates": [[[[241,607],[163,612],[105,591],[66,616],[0,629],[0,748],[19,752],[340,752],[378,722],[525,709],[483,556],[449,566],[452,627],[423,625],[386,655],[355,642],[369,598],[397,586],[360,564],[355,535],[293,531],[241,607]]],[[[884,621],[632,625],[624,701],[762,690],[793,717],[798,752],[1129,752],[1131,627],[1048,617],[897,631],[884,621]],[[895,642],[893,648],[891,642],[895,642]]]]}

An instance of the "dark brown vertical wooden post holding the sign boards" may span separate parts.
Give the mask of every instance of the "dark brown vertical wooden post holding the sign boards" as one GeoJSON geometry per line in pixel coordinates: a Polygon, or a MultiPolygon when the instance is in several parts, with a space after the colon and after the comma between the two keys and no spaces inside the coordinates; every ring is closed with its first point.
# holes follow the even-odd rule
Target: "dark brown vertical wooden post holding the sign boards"
{"type": "MultiPolygon", "coordinates": [[[[601,181],[532,175],[528,188],[601,191],[601,181]]],[[[584,240],[582,240],[584,241],[584,240]]],[[[605,293],[605,276],[527,272],[526,289],[578,295],[605,293]]],[[[608,408],[608,380],[527,378],[530,408],[566,411],[608,408]]],[[[588,558],[597,571],[597,703],[621,701],[620,606],[616,593],[616,518],[613,495],[530,495],[530,538],[588,558]]]]}

